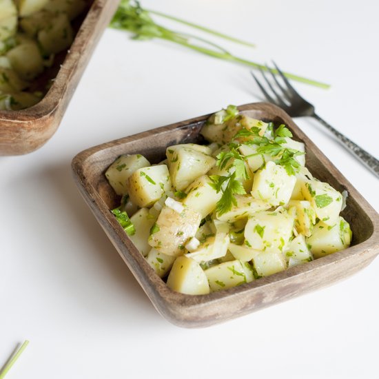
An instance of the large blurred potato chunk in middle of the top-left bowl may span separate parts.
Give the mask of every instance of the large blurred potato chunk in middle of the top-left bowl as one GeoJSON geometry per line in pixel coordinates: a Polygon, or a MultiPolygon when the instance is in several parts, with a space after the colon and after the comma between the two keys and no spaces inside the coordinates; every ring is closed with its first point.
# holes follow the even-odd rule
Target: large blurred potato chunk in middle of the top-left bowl
{"type": "Polygon", "coordinates": [[[21,79],[32,80],[44,70],[43,59],[37,43],[30,40],[7,52],[12,68],[21,79]]]}

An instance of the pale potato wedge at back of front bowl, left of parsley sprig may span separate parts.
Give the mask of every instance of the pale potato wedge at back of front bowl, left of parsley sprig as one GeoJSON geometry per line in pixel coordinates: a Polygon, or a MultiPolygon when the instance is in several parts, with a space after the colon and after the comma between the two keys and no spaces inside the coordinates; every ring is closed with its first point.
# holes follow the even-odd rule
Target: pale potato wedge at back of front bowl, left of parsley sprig
{"type": "Polygon", "coordinates": [[[180,191],[187,188],[198,176],[206,174],[216,162],[212,156],[188,147],[178,150],[167,147],[166,155],[172,184],[180,191]]]}

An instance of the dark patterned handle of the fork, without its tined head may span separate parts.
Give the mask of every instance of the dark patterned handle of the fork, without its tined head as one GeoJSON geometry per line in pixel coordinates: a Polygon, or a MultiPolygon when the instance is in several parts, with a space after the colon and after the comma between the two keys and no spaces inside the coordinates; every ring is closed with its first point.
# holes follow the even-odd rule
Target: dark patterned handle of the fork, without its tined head
{"type": "Polygon", "coordinates": [[[324,125],[327,130],[334,134],[337,137],[338,142],[340,142],[351,154],[354,154],[358,160],[363,163],[377,178],[379,178],[379,161],[374,156],[369,154],[366,150],[363,150],[362,147],[358,146],[353,141],[349,140],[346,136],[338,132],[334,127],[329,125],[324,119],[321,119],[318,114],[314,113],[312,115],[317,119],[322,125],[324,125]]]}

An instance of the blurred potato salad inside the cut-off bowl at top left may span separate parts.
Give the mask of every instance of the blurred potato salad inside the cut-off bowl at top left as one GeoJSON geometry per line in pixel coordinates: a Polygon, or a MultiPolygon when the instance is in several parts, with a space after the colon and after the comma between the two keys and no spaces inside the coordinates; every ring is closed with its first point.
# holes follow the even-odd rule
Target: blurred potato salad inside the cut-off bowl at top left
{"type": "Polygon", "coordinates": [[[0,110],[41,100],[44,93],[32,90],[32,81],[70,47],[71,21],[85,6],[85,0],[0,0],[0,110]]]}

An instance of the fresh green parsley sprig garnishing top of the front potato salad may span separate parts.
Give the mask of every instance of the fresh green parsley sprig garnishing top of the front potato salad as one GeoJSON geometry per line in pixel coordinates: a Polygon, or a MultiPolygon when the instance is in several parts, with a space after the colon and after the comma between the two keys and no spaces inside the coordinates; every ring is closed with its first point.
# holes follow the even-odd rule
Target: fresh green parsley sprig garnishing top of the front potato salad
{"type": "MultiPolygon", "coordinates": [[[[273,127],[270,123],[269,127],[273,127]]],[[[285,167],[287,174],[295,175],[300,168],[300,163],[296,161],[296,156],[304,154],[298,150],[291,149],[283,146],[286,142],[286,137],[292,137],[290,130],[285,125],[279,125],[274,130],[273,139],[267,138],[267,136],[260,136],[260,129],[258,127],[252,127],[251,129],[243,128],[235,136],[234,141],[242,139],[246,145],[257,146],[256,153],[250,155],[242,155],[238,152],[240,143],[229,143],[228,151],[221,152],[216,156],[216,166],[220,170],[226,169],[229,174],[227,175],[212,175],[211,187],[216,192],[222,192],[221,199],[216,204],[216,212],[219,216],[229,212],[233,205],[237,205],[236,194],[246,194],[246,191],[241,183],[242,180],[249,178],[249,174],[246,169],[245,161],[260,154],[268,154],[273,157],[277,157],[274,163],[285,167]]]]}

